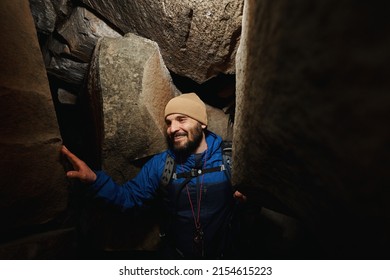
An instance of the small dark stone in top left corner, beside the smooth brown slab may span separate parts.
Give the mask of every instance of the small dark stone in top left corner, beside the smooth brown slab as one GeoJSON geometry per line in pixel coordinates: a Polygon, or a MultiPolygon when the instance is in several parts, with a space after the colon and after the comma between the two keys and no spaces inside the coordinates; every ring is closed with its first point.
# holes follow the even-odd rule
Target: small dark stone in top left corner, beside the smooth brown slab
{"type": "Polygon", "coordinates": [[[29,3],[37,31],[52,33],[57,19],[53,3],[50,0],[30,0],[29,3]]]}

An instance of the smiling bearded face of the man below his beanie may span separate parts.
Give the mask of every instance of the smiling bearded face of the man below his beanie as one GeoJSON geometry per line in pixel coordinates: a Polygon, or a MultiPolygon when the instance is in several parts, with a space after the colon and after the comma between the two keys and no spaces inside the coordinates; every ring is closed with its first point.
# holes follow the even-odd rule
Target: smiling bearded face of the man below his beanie
{"type": "Polygon", "coordinates": [[[175,152],[191,154],[203,139],[201,124],[183,114],[171,114],[165,118],[168,144],[175,152]]]}

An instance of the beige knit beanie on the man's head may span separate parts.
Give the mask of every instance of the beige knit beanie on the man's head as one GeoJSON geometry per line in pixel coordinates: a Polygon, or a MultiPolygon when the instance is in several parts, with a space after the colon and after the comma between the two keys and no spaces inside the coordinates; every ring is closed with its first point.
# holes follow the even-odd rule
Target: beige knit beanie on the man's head
{"type": "Polygon", "coordinates": [[[169,100],[165,118],[170,114],[183,114],[207,125],[206,105],[196,93],[183,93],[169,100]]]}

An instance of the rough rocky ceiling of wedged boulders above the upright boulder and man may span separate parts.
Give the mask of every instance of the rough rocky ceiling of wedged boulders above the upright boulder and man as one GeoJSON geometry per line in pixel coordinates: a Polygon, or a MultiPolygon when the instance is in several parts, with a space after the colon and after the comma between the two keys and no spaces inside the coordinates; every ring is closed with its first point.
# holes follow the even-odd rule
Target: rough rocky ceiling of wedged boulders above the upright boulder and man
{"type": "Polygon", "coordinates": [[[187,80],[202,90],[220,75],[232,83],[243,0],[30,0],[30,6],[47,72],[71,93],[85,79],[96,42],[126,33],[155,41],[179,85],[187,80]]]}

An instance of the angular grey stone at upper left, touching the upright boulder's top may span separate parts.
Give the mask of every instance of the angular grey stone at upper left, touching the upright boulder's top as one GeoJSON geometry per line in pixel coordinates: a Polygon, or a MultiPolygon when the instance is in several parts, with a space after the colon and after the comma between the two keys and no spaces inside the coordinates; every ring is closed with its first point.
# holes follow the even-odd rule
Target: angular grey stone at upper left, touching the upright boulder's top
{"type": "Polygon", "coordinates": [[[89,62],[96,42],[101,37],[120,37],[121,34],[82,7],[76,7],[69,19],[57,30],[67,42],[70,55],[89,62]]]}

